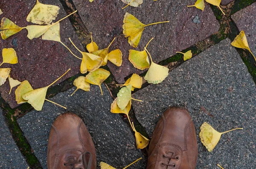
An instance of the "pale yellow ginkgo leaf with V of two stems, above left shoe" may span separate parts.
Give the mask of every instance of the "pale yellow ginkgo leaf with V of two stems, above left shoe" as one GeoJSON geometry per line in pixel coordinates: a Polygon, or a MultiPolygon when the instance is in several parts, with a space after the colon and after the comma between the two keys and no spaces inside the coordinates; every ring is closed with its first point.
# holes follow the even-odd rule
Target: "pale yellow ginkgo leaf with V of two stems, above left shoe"
{"type": "MultiPolygon", "coordinates": [[[[35,110],[42,110],[43,108],[43,105],[44,105],[44,100],[46,101],[49,101],[51,103],[54,103],[54,104],[57,104],[53,101],[50,101],[48,99],[45,99],[45,96],[46,96],[46,93],[47,93],[47,89],[53,85],[55,82],[57,82],[59,79],[61,79],[62,76],[64,76],[70,69],[68,69],[63,75],[61,75],[57,80],[55,80],[54,82],[52,82],[50,85],[46,86],[46,87],[42,87],[42,88],[38,88],[38,89],[35,89],[35,90],[32,90],[28,93],[25,93],[23,94],[22,98],[24,100],[26,100],[29,104],[32,105],[32,107],[35,108],[35,110]]],[[[60,107],[63,107],[61,106],[60,104],[57,104],[58,106],[60,107]]],[[[65,109],[67,109],[66,107],[63,107],[65,109]]]]}

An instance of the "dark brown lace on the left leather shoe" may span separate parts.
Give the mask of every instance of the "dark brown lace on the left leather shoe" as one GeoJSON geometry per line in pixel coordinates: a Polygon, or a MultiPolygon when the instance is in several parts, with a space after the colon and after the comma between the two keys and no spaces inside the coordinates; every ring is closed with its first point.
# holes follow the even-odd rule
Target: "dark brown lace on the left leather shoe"
{"type": "MultiPolygon", "coordinates": [[[[75,168],[75,164],[81,163],[81,160],[76,160],[75,158],[69,158],[68,163],[64,163],[64,166],[71,166],[71,169],[81,169],[81,168],[75,168]]],[[[91,155],[90,152],[85,152],[83,154],[83,164],[85,169],[91,169],[92,166],[92,161],[93,161],[93,156],[91,155]],[[89,158],[87,158],[87,156],[89,158]]]]}

